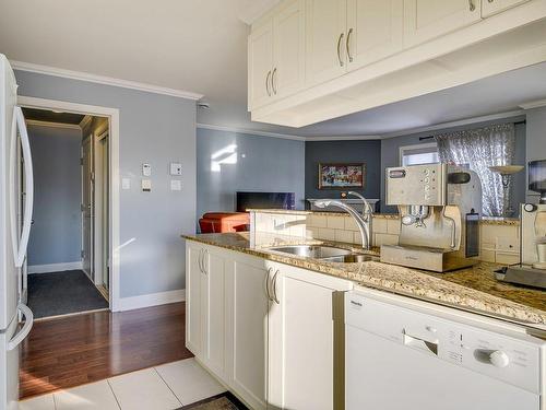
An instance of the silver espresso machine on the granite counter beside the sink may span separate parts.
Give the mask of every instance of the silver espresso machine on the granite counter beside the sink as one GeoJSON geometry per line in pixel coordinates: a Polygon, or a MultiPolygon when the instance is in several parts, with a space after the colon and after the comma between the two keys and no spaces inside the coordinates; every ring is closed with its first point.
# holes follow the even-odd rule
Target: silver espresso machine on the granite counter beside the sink
{"type": "Polygon", "coordinates": [[[482,184],[473,171],[448,164],[385,169],[389,206],[397,206],[397,245],[381,246],[381,261],[446,272],[477,262],[482,184]]]}

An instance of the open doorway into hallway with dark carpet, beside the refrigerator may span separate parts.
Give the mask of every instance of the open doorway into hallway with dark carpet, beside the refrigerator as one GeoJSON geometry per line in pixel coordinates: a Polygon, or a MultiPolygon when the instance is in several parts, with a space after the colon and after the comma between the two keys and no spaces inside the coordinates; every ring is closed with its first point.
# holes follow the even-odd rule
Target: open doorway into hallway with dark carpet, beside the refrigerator
{"type": "MultiPolygon", "coordinates": [[[[95,145],[100,147],[99,136],[108,134],[109,120],[43,108],[23,112],[35,169],[26,258],[28,305],[36,318],[107,309],[109,283],[103,282],[100,267],[108,257],[94,245],[109,236],[109,223],[95,224],[97,210],[104,214],[102,192],[109,190],[108,179],[96,186],[96,175],[102,176],[105,166],[109,175],[109,161],[102,159],[104,149],[95,152],[95,145]]],[[[103,144],[107,143],[106,138],[103,144]]]]}

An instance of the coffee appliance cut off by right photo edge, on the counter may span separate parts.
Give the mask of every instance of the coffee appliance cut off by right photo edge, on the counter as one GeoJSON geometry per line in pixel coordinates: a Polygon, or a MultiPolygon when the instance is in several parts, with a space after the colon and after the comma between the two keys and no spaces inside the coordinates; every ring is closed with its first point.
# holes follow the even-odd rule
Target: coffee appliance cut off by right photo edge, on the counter
{"type": "Polygon", "coordinates": [[[541,199],[521,204],[520,263],[497,272],[497,279],[546,289],[546,160],[529,163],[529,189],[541,199]]]}

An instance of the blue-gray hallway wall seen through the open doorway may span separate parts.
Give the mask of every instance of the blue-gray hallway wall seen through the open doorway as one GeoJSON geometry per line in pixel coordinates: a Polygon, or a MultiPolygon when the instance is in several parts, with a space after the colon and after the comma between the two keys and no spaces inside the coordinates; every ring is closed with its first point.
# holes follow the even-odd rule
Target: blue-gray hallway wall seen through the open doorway
{"type": "Polygon", "coordinates": [[[79,262],[82,131],[28,126],[28,138],[35,184],[28,265],[79,262]]]}

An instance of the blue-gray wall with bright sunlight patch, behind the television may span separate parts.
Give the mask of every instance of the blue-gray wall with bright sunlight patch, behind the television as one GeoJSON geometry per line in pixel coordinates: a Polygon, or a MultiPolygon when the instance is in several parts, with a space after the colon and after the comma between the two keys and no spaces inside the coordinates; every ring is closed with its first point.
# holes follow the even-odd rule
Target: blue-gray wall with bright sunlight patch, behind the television
{"type": "Polygon", "coordinates": [[[238,190],[296,194],[296,207],[304,208],[305,143],[271,137],[198,128],[198,218],[205,212],[235,211],[238,190]],[[227,147],[212,164],[212,156],[227,147]]]}

